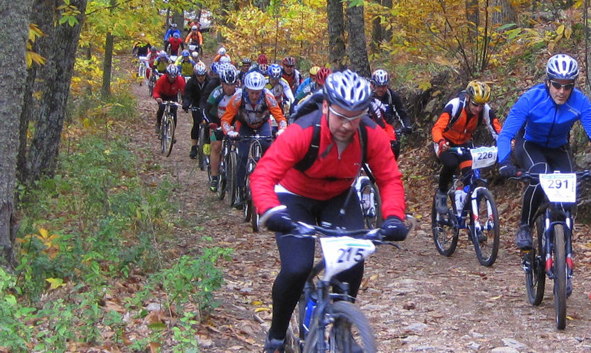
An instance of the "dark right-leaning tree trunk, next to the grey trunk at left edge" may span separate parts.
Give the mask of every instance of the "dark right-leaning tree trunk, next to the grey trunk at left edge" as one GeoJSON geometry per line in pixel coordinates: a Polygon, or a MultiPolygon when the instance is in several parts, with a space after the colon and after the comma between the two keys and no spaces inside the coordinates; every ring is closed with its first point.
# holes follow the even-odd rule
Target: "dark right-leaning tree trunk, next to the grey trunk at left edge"
{"type": "MultiPolygon", "coordinates": [[[[37,117],[38,121],[28,152],[28,182],[38,180],[44,174],[53,176],[66,115],[83,18],[78,15],[78,24],[74,26],[54,24],[53,11],[61,3],[60,0],[51,0],[35,8],[35,12],[44,12],[48,16],[42,19],[42,30],[46,37],[37,39],[39,54],[46,57],[46,62],[39,68],[37,75],[43,104],[32,111],[32,116],[37,117]]],[[[84,14],[87,0],[71,0],[70,4],[84,14]]]]}

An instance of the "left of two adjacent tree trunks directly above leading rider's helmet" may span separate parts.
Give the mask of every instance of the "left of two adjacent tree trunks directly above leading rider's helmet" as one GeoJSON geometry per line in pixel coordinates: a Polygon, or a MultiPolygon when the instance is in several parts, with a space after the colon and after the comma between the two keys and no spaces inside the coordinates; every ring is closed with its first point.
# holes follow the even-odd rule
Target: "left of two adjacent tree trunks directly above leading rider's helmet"
{"type": "Polygon", "coordinates": [[[345,23],[343,3],[340,0],[326,0],[328,17],[328,61],[333,69],[340,69],[345,62],[345,23]]]}

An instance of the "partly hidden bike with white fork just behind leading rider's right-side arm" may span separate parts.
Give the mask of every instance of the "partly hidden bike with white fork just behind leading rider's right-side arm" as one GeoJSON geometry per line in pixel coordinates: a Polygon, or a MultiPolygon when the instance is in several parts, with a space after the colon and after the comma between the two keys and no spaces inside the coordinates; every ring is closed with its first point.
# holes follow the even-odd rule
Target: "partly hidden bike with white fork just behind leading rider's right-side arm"
{"type": "Polygon", "coordinates": [[[384,221],[382,217],[382,198],[369,165],[363,165],[364,175],[355,179],[353,187],[357,191],[365,226],[368,229],[378,228],[384,221]]]}

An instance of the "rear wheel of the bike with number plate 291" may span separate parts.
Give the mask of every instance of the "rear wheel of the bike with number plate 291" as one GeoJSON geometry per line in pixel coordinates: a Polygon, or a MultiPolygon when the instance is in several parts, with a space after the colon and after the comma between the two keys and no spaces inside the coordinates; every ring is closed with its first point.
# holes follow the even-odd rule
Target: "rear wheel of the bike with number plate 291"
{"type": "Polygon", "coordinates": [[[540,215],[531,227],[531,237],[535,248],[523,254],[525,270],[525,288],[527,299],[531,305],[540,305],[544,298],[546,284],[545,255],[544,255],[544,217],[540,215]]]}

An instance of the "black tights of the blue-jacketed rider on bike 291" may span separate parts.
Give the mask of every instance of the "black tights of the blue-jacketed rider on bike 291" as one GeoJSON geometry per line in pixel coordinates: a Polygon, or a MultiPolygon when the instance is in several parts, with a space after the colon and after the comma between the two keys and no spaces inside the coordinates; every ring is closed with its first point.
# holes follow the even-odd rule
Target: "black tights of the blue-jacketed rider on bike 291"
{"type": "MultiPolygon", "coordinates": [[[[532,173],[548,173],[559,170],[563,173],[572,172],[572,157],[570,147],[563,145],[558,148],[542,147],[536,143],[525,141],[523,138],[515,140],[515,159],[520,168],[532,173]]],[[[538,181],[529,183],[523,194],[521,208],[521,224],[529,224],[536,214],[545,196],[538,181]]]]}

